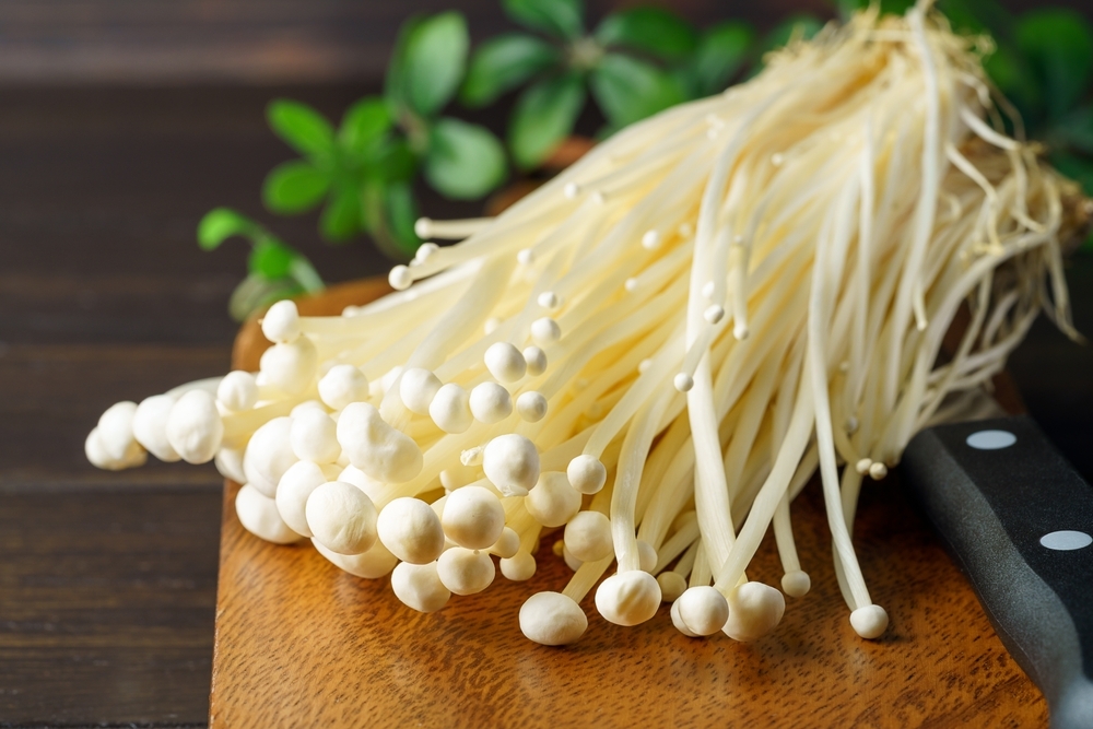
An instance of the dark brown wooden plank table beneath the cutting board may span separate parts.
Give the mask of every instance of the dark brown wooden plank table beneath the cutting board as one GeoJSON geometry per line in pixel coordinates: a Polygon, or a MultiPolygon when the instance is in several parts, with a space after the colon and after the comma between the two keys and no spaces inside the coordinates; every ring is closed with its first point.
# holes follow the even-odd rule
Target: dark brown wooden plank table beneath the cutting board
{"type": "MultiPolygon", "coordinates": [[[[245,248],[201,254],[195,225],[216,204],[260,214],[290,156],[268,98],[337,116],[361,92],[0,91],[0,727],[205,724],[221,479],[96,471],[83,438],[117,400],[227,368],[245,248]]],[[[321,246],[310,216],[266,220],[331,278],[385,269],[321,246]]],[[[1069,278],[1093,332],[1093,257],[1069,278]]],[[[1093,352],[1041,321],[1012,372],[1093,477],[1093,352]]]]}

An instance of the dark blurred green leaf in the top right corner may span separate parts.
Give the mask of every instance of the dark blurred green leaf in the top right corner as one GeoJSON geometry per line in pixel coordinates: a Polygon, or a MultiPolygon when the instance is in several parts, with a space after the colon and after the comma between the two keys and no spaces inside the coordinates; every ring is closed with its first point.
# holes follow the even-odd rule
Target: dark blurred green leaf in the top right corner
{"type": "Polygon", "coordinates": [[[1085,94],[1093,72],[1089,22],[1073,10],[1035,10],[1021,17],[1016,40],[1044,84],[1050,117],[1061,118],[1085,94]]]}

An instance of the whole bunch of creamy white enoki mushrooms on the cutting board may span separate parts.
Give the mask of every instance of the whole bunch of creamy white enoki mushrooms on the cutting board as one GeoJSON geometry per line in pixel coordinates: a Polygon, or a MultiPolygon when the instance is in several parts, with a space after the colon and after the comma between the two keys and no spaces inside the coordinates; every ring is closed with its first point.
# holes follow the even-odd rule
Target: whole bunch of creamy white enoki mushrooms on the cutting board
{"type": "Polygon", "coordinates": [[[1088,211],[1003,131],[988,46],[921,3],[792,42],[497,217],[421,220],[461,243],[422,245],[395,293],[275,304],[259,372],[118,403],[87,457],[215,459],[248,530],[390,575],[424,612],[487,589],[494,557],[530,579],[564,529],[572,578],[519,608],[546,645],[580,637],[593,588],[619,625],[671,602],[689,636],[772,631],[809,591],[791,504],[819,469],[850,624],[875,638],[862,481],[966,414],[1038,311],[1077,337],[1061,247],[1088,211]],[[768,529],[780,590],[745,572],[768,529]]]}

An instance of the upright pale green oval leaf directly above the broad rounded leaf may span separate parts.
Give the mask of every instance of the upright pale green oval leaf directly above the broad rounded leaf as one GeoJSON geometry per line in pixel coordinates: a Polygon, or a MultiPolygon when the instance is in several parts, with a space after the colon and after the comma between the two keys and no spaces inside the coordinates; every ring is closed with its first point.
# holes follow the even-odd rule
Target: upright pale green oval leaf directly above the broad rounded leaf
{"type": "Polygon", "coordinates": [[[410,108],[431,117],[451,101],[467,67],[467,21],[455,11],[427,17],[407,39],[402,59],[404,98],[410,108]]]}

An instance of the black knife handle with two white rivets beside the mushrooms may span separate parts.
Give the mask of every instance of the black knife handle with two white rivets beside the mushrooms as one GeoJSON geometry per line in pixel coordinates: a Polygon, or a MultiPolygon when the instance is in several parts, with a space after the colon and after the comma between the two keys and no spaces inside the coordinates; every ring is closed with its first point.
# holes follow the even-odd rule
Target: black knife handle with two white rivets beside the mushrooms
{"type": "Polygon", "coordinates": [[[1029,418],[941,425],[901,466],[1055,729],[1093,729],[1093,489],[1029,418]]]}

